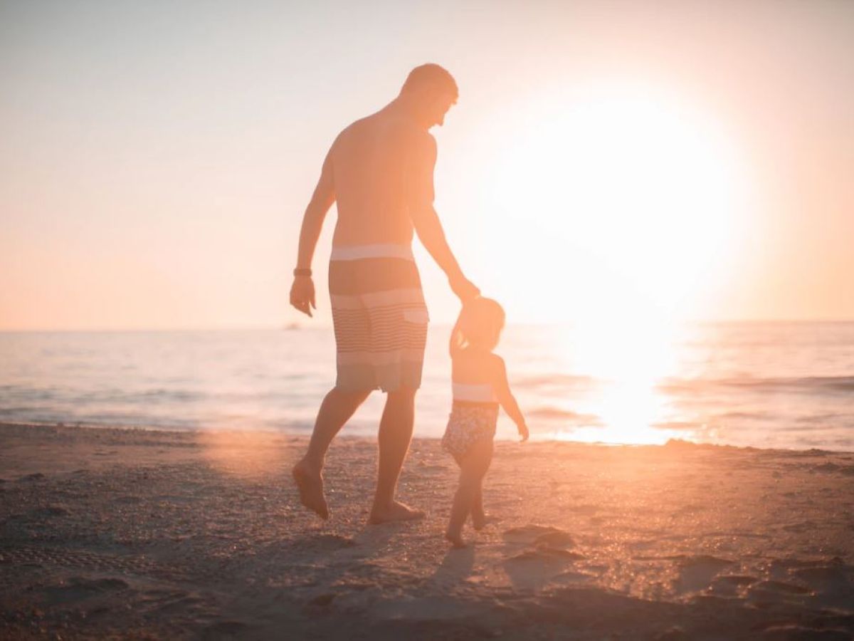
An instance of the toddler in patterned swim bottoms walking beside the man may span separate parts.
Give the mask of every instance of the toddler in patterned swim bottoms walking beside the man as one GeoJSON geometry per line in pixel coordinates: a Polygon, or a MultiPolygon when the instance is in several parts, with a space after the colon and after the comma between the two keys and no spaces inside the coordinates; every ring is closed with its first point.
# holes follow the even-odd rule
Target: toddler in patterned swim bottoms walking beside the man
{"type": "Polygon", "coordinates": [[[503,328],[504,309],[500,304],[477,297],[465,303],[451,332],[453,409],[442,447],[459,465],[459,488],[445,532],[455,548],[466,546],[462,530],[469,514],[476,530],[487,522],[481,485],[492,462],[499,404],[516,423],[522,440],[528,440],[528,426],[507,385],[504,361],[492,353],[503,328]]]}

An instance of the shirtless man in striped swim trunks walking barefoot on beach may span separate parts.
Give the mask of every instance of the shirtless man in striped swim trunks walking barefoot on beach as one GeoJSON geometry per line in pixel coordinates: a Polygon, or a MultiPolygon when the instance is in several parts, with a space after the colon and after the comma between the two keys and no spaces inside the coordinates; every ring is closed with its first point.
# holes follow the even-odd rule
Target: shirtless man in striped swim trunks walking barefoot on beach
{"type": "Polygon", "coordinates": [[[377,388],[387,397],[369,522],[424,516],[395,501],[412,439],[427,338],[427,308],[412,259],[413,230],[460,300],[478,294],[447,246],[433,209],[436,140],[428,130],[442,125],[457,97],[456,82],[444,68],[412,69],[398,97],[338,135],[302,220],[290,304],[311,316],[316,309],[312,256],[326,212],[337,201],[329,268],[337,379],[320,405],[308,451],[293,469],[301,503],[322,519],[329,518],[322,474],[326,450],[377,388]]]}

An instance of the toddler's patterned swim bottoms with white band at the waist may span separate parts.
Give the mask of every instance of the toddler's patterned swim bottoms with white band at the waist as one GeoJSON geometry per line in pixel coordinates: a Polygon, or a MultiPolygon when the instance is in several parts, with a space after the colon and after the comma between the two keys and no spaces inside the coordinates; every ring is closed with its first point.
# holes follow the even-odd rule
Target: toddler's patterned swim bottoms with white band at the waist
{"type": "Polygon", "coordinates": [[[473,444],[494,438],[497,422],[498,401],[492,385],[454,383],[453,406],[442,447],[455,458],[462,458],[473,444]]]}

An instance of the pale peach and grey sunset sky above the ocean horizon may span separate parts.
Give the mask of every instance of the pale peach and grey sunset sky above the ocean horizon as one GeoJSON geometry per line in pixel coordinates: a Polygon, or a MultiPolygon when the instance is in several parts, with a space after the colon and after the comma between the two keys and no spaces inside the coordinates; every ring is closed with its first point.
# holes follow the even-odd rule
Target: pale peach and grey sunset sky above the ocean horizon
{"type": "Polygon", "coordinates": [[[334,208],[288,306],[302,212],[423,62],[509,321],[854,318],[854,3],[0,0],[0,330],[329,324],[334,208]]]}

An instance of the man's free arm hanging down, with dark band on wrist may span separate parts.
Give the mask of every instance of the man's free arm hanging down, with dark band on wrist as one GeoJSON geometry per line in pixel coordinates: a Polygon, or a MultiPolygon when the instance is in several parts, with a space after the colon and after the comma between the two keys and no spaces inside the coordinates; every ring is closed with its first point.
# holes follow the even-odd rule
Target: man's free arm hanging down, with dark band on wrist
{"type": "MultiPolygon", "coordinates": [[[[323,169],[320,171],[320,179],[314,188],[311,201],[309,201],[305,214],[302,216],[302,227],[300,229],[300,246],[297,250],[296,268],[311,269],[314,250],[320,238],[320,230],[323,229],[323,221],[332,203],[335,202],[335,181],[332,178],[331,150],[326,155],[323,169]]],[[[312,315],[312,308],[317,309],[314,300],[314,282],[311,276],[301,275],[294,277],[294,284],[290,288],[290,304],[299,309],[303,314],[312,315]]]]}

